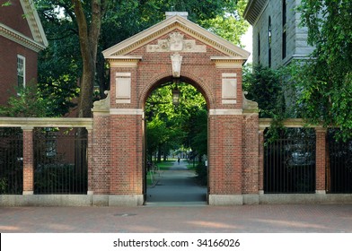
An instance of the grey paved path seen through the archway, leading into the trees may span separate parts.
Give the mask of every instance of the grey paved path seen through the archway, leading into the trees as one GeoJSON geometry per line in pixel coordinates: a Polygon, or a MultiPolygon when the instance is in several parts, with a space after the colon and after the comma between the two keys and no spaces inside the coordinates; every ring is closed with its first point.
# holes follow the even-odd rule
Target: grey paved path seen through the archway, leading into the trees
{"type": "Polygon", "coordinates": [[[206,204],[207,186],[198,186],[196,174],[187,169],[187,161],[177,160],[169,170],[164,170],[154,187],[147,188],[146,205],[206,204]]]}

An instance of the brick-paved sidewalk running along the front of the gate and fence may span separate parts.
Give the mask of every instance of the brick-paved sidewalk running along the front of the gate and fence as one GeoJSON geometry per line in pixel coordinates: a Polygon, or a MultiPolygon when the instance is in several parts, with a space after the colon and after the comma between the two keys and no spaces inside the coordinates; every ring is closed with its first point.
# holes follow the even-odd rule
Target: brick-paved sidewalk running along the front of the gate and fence
{"type": "Polygon", "coordinates": [[[0,232],[352,232],[352,204],[3,207],[0,232]]]}

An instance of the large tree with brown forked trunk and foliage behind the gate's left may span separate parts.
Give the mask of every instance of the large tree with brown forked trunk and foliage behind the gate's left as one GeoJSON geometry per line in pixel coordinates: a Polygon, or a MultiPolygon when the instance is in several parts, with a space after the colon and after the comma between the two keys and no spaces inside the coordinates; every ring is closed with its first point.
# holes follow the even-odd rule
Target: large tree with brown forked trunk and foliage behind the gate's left
{"type": "MultiPolygon", "coordinates": [[[[47,94],[53,91],[75,97],[79,81],[81,117],[90,117],[93,85],[100,87],[101,95],[109,89],[101,50],[162,21],[166,11],[188,11],[189,20],[198,23],[216,16],[238,17],[237,1],[232,0],[35,0],[35,3],[50,39],[50,48],[41,57],[44,60],[40,60],[43,64],[40,74],[48,74],[40,77],[40,82],[47,94]]],[[[233,25],[223,28],[232,30],[233,25]]],[[[64,111],[71,105],[66,99],[57,103],[62,104],[64,111]]]]}

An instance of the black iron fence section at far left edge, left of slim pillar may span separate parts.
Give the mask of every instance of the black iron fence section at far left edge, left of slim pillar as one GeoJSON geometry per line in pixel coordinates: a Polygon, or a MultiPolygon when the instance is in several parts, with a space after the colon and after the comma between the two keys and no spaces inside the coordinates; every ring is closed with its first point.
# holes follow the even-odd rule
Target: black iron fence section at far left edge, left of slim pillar
{"type": "Polygon", "coordinates": [[[22,195],[23,137],[19,128],[0,128],[0,194],[22,195]]]}

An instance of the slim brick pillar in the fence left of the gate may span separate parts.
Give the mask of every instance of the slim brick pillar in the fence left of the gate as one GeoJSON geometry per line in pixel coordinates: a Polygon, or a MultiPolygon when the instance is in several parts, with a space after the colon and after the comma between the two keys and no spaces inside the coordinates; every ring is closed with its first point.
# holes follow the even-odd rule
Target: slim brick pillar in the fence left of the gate
{"type": "Polygon", "coordinates": [[[34,157],[33,127],[23,130],[23,195],[33,195],[34,191],[34,157]]]}

